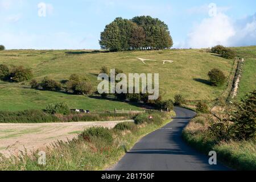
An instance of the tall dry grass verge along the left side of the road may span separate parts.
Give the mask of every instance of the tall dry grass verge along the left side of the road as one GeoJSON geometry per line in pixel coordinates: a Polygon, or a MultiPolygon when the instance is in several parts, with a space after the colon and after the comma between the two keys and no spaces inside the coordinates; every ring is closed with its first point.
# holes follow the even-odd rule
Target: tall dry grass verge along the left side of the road
{"type": "MultiPolygon", "coordinates": [[[[56,142],[46,150],[46,165],[38,164],[38,152],[28,156],[26,152],[22,156],[13,156],[10,159],[0,160],[0,170],[22,171],[92,171],[112,167],[125,155],[124,147],[129,150],[144,135],[159,129],[170,122],[174,113],[165,115],[162,125],[148,123],[137,126],[135,131],[113,130],[114,142],[112,145],[101,138],[73,139],[68,142],[56,142]]],[[[1,159],[1,158],[0,158],[1,159]]]]}

